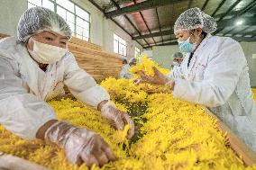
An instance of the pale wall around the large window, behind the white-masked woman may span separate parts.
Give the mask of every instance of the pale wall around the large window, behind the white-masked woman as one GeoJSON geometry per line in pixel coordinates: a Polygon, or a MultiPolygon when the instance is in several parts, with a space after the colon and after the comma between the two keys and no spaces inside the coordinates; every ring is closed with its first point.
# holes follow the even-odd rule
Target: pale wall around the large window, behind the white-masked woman
{"type": "MultiPolygon", "coordinates": [[[[127,41],[127,58],[134,57],[135,47],[142,47],[111,20],[106,20],[104,14],[88,0],[72,0],[91,14],[91,42],[103,47],[106,51],[114,52],[114,33],[127,41]]],[[[27,9],[26,0],[1,0],[0,3],[0,32],[16,35],[16,27],[20,16],[27,9]]],[[[120,56],[122,57],[122,56],[120,56]]]]}

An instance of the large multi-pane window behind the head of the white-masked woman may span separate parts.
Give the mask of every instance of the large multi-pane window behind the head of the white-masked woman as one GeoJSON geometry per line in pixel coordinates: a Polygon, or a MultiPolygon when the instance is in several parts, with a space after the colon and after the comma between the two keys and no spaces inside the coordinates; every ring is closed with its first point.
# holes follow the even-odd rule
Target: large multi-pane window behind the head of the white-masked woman
{"type": "Polygon", "coordinates": [[[73,36],[90,39],[90,13],[69,0],[28,0],[28,8],[42,6],[58,13],[68,24],[73,36]]]}

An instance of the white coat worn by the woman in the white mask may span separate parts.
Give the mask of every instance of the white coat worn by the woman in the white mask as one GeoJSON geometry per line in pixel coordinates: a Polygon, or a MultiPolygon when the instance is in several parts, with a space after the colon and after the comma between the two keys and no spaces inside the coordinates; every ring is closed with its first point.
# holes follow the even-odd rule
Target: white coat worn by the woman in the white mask
{"type": "Polygon", "coordinates": [[[105,89],[78,67],[70,52],[44,72],[23,43],[14,37],[0,40],[0,123],[7,130],[34,139],[45,122],[56,119],[45,101],[64,94],[63,85],[92,106],[109,100],[105,89]]]}

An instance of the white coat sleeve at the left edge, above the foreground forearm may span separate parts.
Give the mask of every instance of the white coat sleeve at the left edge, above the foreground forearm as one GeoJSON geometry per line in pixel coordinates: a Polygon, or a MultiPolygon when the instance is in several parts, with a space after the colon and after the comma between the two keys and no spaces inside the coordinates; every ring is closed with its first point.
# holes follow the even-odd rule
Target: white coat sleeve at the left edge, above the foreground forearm
{"type": "Polygon", "coordinates": [[[0,123],[23,139],[35,139],[37,130],[56,116],[47,103],[23,88],[11,63],[0,55],[0,123]]]}

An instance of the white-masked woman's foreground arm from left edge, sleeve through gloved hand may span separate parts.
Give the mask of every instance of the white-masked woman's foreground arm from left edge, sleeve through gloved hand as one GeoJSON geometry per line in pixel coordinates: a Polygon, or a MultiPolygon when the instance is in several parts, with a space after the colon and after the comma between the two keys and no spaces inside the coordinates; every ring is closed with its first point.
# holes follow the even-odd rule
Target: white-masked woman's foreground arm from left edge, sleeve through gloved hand
{"type": "MultiPolygon", "coordinates": [[[[11,62],[11,61],[10,61],[11,62]]],[[[99,135],[57,121],[50,106],[23,89],[23,81],[15,76],[12,66],[0,57],[0,123],[23,139],[43,139],[64,148],[70,163],[103,166],[114,155],[99,135]]]]}

